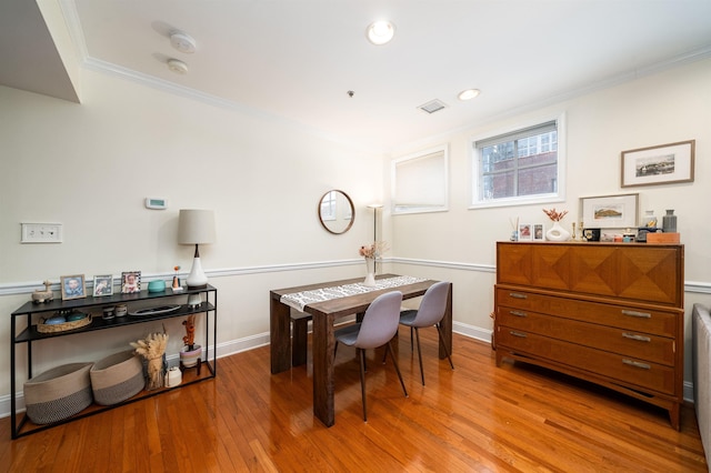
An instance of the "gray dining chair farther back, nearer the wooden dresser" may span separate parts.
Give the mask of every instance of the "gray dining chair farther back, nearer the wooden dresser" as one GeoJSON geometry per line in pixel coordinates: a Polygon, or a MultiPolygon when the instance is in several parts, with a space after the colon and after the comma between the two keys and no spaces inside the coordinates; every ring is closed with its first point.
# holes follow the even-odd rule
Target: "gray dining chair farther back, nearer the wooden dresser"
{"type": "Polygon", "coordinates": [[[404,310],[400,313],[400,324],[410,328],[410,343],[412,350],[414,350],[414,343],[412,340],[412,330],[418,341],[418,358],[420,359],[420,376],[422,378],[422,385],[424,385],[424,370],[422,369],[422,349],[420,348],[420,329],[432,326],[437,328],[439,342],[444,348],[447,359],[450,366],[454,369],[452,363],[452,356],[444,343],[444,335],[442,334],[442,318],[447,311],[447,304],[449,299],[449,285],[447,281],[441,281],[432,284],[422,296],[419,309],[404,310]]]}

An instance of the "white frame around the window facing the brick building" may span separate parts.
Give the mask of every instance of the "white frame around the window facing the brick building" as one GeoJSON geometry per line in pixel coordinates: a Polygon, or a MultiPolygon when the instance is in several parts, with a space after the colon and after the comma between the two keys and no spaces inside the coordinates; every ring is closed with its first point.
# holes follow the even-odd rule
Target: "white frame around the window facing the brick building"
{"type": "Polygon", "coordinates": [[[469,209],[485,209],[492,207],[510,207],[510,205],[527,205],[537,203],[551,203],[551,202],[564,202],[565,201],[565,162],[567,162],[567,145],[565,145],[565,113],[561,112],[554,115],[544,115],[537,119],[520,122],[514,127],[498,130],[492,133],[474,137],[470,140],[470,168],[471,168],[471,185],[470,189],[470,204],[469,209]],[[477,150],[477,141],[487,140],[501,134],[513,133],[518,130],[525,130],[527,128],[535,127],[541,123],[555,120],[558,129],[558,189],[555,192],[535,195],[517,195],[510,198],[501,198],[495,200],[480,200],[479,187],[481,182],[479,180],[481,169],[481,158],[479,150],[477,150]]]}

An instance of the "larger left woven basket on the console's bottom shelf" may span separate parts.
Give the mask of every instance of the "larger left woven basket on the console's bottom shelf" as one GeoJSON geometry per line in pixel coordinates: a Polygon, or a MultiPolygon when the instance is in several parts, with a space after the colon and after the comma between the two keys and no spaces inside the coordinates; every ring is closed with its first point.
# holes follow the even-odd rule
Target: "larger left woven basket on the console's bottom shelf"
{"type": "Polygon", "coordinates": [[[87,409],[92,401],[89,378],[92,364],[64,364],[27,381],[24,405],[30,421],[51,424],[87,409]]]}

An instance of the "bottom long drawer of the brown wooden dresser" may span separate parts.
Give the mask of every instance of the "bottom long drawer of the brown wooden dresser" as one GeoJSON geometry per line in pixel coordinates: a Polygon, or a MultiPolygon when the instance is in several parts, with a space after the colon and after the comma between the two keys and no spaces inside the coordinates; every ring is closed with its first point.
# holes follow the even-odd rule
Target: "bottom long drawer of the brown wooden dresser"
{"type": "Polygon", "coordinates": [[[497,328],[497,350],[568,365],[578,372],[607,376],[612,382],[639,386],[670,395],[675,392],[675,372],[671,366],[651,363],[632,356],[577,345],[522,330],[497,328]]]}

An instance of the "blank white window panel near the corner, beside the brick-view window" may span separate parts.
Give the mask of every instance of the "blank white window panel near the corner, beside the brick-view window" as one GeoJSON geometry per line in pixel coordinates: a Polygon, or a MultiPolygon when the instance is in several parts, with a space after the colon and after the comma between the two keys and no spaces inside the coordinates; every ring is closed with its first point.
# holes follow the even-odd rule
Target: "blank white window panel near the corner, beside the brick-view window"
{"type": "Polygon", "coordinates": [[[392,161],[392,213],[447,210],[447,145],[392,161]]]}

